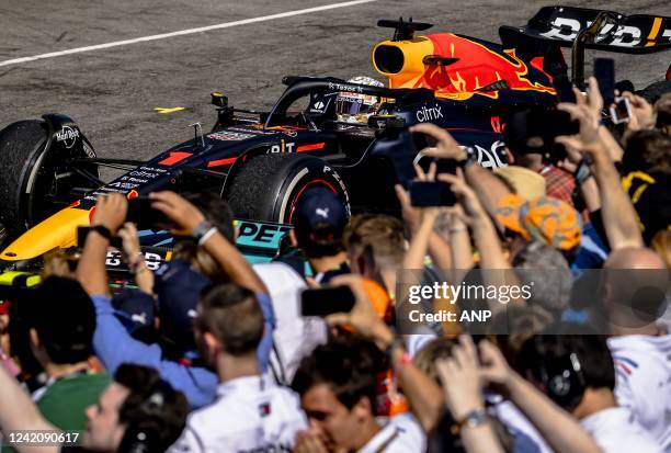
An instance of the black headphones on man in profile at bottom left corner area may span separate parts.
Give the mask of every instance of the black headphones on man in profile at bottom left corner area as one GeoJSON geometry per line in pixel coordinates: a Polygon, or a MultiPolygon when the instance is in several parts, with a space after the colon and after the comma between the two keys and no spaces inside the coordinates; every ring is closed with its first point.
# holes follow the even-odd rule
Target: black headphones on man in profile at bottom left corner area
{"type": "Polygon", "coordinates": [[[158,453],[164,450],[160,420],[167,397],[164,384],[159,381],[126,420],[127,428],[117,450],[120,453],[158,453]]]}

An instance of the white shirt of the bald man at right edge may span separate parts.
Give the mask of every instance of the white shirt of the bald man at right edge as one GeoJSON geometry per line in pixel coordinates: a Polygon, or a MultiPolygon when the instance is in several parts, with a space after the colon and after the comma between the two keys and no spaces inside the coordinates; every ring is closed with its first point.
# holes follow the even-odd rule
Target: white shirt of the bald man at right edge
{"type": "Polygon", "coordinates": [[[612,337],[615,397],[671,451],[671,335],[612,337]]]}

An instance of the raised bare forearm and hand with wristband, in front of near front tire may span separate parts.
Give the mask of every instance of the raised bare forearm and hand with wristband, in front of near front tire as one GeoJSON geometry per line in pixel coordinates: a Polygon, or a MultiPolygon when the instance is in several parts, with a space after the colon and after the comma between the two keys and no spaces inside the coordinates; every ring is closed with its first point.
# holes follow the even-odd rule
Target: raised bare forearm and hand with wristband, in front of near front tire
{"type": "MultiPolygon", "coordinates": [[[[149,194],[151,207],[164,213],[177,226],[172,233],[182,236],[193,235],[207,224],[205,215],[193,204],[174,192],[153,192],[149,194]]],[[[232,283],[244,286],[254,293],[268,294],[268,288],[252,267],[215,227],[206,228],[198,238],[198,245],[208,252],[230,278],[232,283]]]]}

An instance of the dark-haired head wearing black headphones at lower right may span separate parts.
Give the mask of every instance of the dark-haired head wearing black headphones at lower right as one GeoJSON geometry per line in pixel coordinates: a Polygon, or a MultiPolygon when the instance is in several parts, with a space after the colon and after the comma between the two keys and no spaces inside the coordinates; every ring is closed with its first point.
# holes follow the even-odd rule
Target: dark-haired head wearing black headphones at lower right
{"type": "Polygon", "coordinates": [[[578,417],[603,395],[613,401],[615,365],[606,337],[577,324],[548,326],[524,342],[518,371],[538,385],[557,405],[578,417]],[[582,407],[581,407],[582,406],[582,407]]]}

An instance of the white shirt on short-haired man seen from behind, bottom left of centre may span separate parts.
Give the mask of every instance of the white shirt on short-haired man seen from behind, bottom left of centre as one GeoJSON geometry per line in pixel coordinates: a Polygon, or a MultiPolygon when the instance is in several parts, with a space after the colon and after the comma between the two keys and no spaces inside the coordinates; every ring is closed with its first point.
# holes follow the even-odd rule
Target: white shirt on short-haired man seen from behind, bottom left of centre
{"type": "Polygon", "coordinates": [[[239,377],[217,387],[217,399],[189,415],[168,450],[177,452],[291,451],[307,429],[298,396],[262,376],[239,377]]]}

